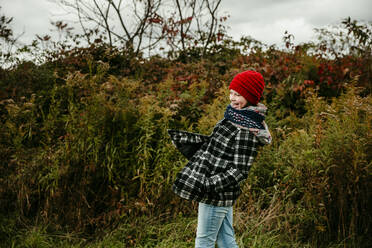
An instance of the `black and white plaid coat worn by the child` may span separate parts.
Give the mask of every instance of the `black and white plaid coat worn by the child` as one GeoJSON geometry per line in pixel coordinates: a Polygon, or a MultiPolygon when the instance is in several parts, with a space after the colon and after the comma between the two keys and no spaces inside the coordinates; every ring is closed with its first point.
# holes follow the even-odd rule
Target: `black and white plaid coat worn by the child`
{"type": "Polygon", "coordinates": [[[256,136],[226,119],[217,123],[210,136],[176,130],[169,134],[177,148],[197,147],[177,174],[173,191],[187,200],[232,206],[257,155],[256,136]]]}

